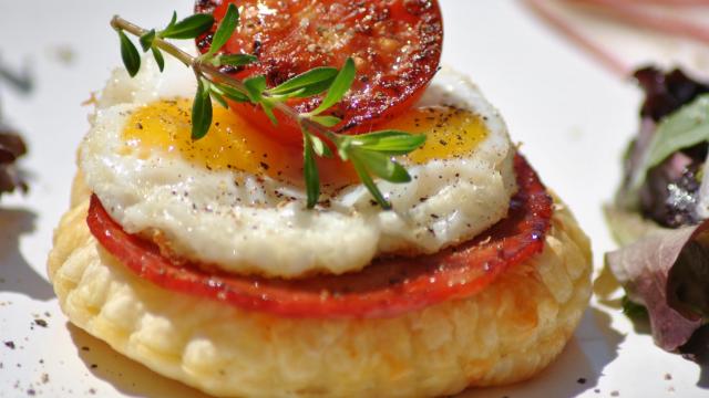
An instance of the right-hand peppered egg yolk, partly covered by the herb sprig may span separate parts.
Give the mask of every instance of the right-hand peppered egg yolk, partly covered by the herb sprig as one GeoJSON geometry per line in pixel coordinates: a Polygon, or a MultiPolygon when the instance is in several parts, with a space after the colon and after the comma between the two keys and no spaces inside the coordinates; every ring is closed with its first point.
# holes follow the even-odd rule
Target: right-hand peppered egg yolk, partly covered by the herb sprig
{"type": "Polygon", "coordinates": [[[479,115],[450,106],[412,108],[380,128],[425,134],[425,144],[408,156],[419,165],[469,157],[487,137],[487,127],[479,115]]]}

